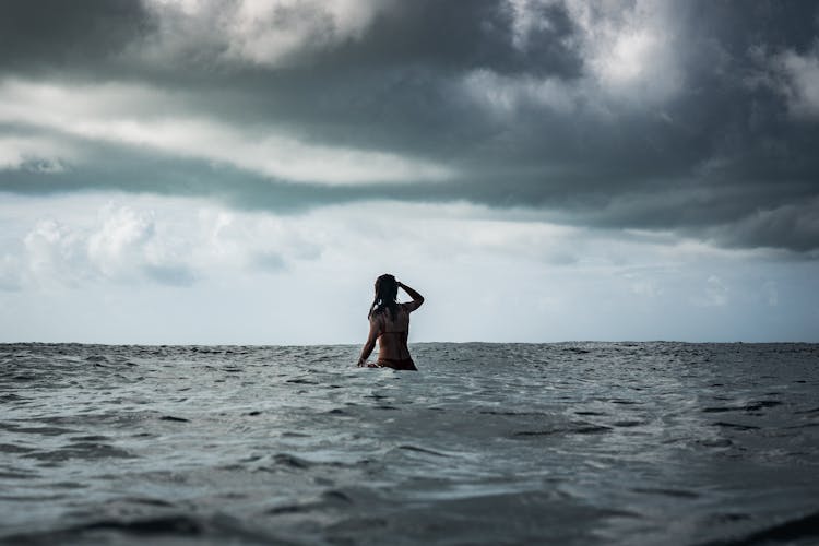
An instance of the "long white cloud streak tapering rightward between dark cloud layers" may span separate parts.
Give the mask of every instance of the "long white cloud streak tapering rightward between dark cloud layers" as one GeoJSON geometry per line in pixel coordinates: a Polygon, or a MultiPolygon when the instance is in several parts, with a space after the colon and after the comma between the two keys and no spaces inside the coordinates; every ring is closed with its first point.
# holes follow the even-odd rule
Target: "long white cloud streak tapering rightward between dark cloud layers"
{"type": "MultiPolygon", "coordinates": [[[[0,83],[0,122],[144,146],[294,182],[391,183],[454,176],[449,167],[389,152],[306,143],[275,128],[248,130],[203,117],[170,116],[168,103],[180,102],[183,98],[174,94],[124,84],[69,86],[7,80],[0,83]]],[[[38,153],[48,152],[46,146],[38,153]]],[[[5,163],[22,157],[22,152],[12,151],[5,163]]],[[[0,155],[0,168],[2,162],[0,155]]]]}

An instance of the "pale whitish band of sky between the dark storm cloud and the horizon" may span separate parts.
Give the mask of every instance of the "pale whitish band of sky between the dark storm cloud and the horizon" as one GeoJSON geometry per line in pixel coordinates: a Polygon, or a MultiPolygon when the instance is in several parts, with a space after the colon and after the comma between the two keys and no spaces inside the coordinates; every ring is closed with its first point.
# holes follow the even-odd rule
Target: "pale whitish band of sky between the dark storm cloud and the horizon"
{"type": "Polygon", "coordinates": [[[360,343],[371,283],[383,272],[427,296],[415,341],[793,339],[807,335],[794,322],[805,313],[773,323],[763,311],[819,305],[812,262],[797,277],[763,254],[672,234],[613,235],[503,214],[378,201],[282,216],[201,199],[12,197],[0,202],[0,332],[360,343]],[[712,273],[703,278],[703,270],[712,273]],[[54,320],[44,322],[46,308],[54,320]],[[67,319],[74,316],[83,318],[67,319]],[[726,320],[749,316],[758,328],[726,320]]]}

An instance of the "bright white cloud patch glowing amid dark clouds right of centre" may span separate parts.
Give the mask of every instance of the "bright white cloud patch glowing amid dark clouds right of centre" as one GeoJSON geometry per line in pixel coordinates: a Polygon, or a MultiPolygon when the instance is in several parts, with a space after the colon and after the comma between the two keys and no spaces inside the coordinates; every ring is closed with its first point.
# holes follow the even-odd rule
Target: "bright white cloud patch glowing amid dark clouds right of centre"
{"type": "MultiPolygon", "coordinates": [[[[513,45],[525,49],[530,34],[550,24],[539,7],[555,1],[509,2],[513,45]]],[[[622,106],[661,104],[682,91],[682,48],[673,3],[639,0],[624,5],[572,0],[567,7],[578,28],[577,35],[567,39],[583,58],[583,76],[505,75],[482,68],[462,79],[465,95],[500,115],[535,106],[565,115],[607,117],[622,106]]]]}

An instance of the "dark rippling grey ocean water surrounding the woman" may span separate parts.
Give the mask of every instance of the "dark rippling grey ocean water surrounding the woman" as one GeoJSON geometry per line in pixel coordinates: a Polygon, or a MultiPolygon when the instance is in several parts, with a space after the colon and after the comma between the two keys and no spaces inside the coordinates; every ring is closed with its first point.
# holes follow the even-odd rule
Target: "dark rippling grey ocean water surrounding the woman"
{"type": "Polygon", "coordinates": [[[0,543],[819,543],[819,345],[0,345],[0,543]]]}

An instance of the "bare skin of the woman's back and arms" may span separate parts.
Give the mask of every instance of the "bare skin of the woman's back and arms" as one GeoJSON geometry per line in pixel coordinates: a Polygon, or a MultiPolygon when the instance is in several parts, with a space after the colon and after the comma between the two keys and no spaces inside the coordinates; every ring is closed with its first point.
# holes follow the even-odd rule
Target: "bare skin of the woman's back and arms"
{"type": "Polygon", "coordinates": [[[400,304],[399,312],[394,319],[390,317],[389,311],[370,317],[370,332],[367,336],[367,342],[361,348],[361,356],[358,358],[357,366],[359,367],[367,366],[375,368],[380,366],[379,364],[367,363],[367,358],[372,354],[372,349],[376,348],[376,341],[378,341],[379,347],[378,363],[411,358],[410,349],[406,346],[406,340],[410,334],[410,313],[422,306],[424,296],[405,284],[399,282],[397,285],[413,300],[400,304]]]}

